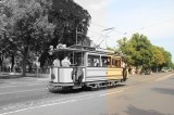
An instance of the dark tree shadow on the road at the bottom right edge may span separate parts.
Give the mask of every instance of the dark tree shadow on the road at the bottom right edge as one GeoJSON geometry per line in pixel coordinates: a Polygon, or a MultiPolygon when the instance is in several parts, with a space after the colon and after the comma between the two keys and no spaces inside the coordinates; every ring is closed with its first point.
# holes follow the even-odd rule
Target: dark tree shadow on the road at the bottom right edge
{"type": "MultiPolygon", "coordinates": [[[[127,107],[127,111],[125,111],[125,113],[127,113],[128,115],[165,115],[165,114],[159,113],[154,110],[141,110],[141,108],[135,107],[133,105],[129,105],[127,107]]],[[[167,115],[170,115],[170,114],[167,114],[167,115]]]]}

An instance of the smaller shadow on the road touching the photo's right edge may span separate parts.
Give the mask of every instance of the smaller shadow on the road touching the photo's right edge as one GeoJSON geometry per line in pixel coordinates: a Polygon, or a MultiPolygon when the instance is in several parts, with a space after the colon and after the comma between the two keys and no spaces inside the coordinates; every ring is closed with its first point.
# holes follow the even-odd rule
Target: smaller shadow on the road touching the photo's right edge
{"type": "Polygon", "coordinates": [[[163,93],[163,94],[172,94],[174,95],[174,89],[169,89],[169,88],[153,88],[154,91],[158,93],[163,93]]]}

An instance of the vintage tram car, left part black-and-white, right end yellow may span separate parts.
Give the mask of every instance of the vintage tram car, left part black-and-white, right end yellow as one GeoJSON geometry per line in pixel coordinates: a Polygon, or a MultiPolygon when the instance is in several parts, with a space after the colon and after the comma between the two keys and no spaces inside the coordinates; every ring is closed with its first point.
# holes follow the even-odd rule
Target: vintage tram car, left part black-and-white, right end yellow
{"type": "Polygon", "coordinates": [[[97,50],[90,47],[73,46],[52,49],[49,52],[60,60],[58,66],[50,67],[48,89],[100,88],[115,86],[125,81],[128,72],[120,53],[97,50]],[[71,65],[63,65],[63,58],[69,56],[71,65]]]}

